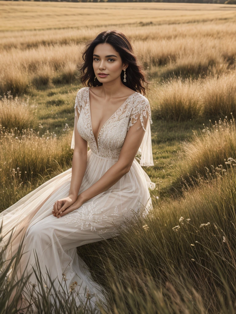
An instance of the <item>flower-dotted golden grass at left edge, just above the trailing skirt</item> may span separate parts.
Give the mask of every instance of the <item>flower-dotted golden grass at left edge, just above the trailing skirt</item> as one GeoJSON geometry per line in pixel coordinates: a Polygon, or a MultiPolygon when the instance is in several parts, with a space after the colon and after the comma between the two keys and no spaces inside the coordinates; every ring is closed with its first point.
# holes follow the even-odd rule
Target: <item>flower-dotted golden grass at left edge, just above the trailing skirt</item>
{"type": "Polygon", "coordinates": [[[70,129],[65,134],[32,129],[20,132],[0,127],[0,211],[8,208],[38,184],[71,167],[70,129]]]}

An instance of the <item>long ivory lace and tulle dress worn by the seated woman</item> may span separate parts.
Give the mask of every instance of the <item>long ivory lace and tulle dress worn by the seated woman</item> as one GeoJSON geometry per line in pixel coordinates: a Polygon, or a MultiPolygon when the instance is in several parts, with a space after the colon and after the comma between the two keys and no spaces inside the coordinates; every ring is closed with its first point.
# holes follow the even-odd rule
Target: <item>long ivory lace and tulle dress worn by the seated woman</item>
{"type": "MultiPolygon", "coordinates": [[[[147,112],[149,120],[139,149],[140,163],[134,159],[130,171],[107,191],[91,198],[80,208],[59,219],[54,217],[53,204],[69,195],[70,168],[45,182],[0,214],[0,225],[3,222],[1,245],[7,242],[9,231],[13,228],[15,235],[11,241],[11,251],[10,249],[6,251],[6,259],[16,252],[20,236],[25,234],[25,254],[21,259],[19,274],[28,260],[27,271],[32,271],[31,265],[35,267],[33,252],[36,251],[45,279],[47,267],[51,279],[58,279],[54,283],[58,290],[60,289],[58,282],[66,284],[69,290],[70,285],[76,281],[75,290],[82,295],[86,295],[89,290],[90,300],[94,304],[94,309],[96,308],[96,298],[103,297],[101,287],[93,281],[87,265],[77,255],[76,247],[118,235],[114,224],[121,224],[124,217],[129,217],[132,211],[144,214],[152,207],[149,188],[155,188],[155,183],[151,182],[141,167],[153,165],[150,132],[152,120],[149,101],[135,92],[104,124],[98,135],[97,145],[91,124],[89,87],[81,88],[76,96],[74,132],[78,131],[81,137],[87,140],[90,148],[79,194],[98,181],[115,164],[129,127],[137,119],[140,119],[143,125],[143,116],[147,116],[147,112]],[[67,280],[63,281],[63,278],[67,280]]],[[[29,281],[31,284],[37,284],[34,274],[29,281]]]]}

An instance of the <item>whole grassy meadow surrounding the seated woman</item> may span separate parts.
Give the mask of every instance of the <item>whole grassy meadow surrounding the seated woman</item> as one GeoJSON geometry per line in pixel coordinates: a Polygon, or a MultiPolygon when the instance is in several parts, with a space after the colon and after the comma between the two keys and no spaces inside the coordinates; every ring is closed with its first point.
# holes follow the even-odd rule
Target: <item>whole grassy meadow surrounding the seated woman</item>
{"type": "MultiPolygon", "coordinates": [[[[156,189],[146,217],[78,247],[101,313],[235,313],[236,5],[0,1],[0,18],[0,211],[71,167],[81,52],[120,30],[151,83],[156,189]]],[[[59,299],[56,313],[90,313],[59,299]]]]}

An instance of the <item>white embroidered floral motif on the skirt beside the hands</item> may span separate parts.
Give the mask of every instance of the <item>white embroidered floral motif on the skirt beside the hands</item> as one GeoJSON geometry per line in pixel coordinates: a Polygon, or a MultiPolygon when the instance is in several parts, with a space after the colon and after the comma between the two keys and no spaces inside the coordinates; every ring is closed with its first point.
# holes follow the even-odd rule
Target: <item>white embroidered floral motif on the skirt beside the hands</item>
{"type": "MultiPolygon", "coordinates": [[[[104,225],[104,227],[110,227],[110,225],[106,225],[106,222],[112,222],[117,217],[109,217],[106,214],[101,214],[106,207],[99,209],[100,205],[96,206],[98,201],[94,204],[93,201],[88,205],[82,205],[80,208],[73,210],[69,214],[65,215],[65,223],[73,224],[75,227],[80,226],[81,230],[84,230],[84,227],[91,226],[91,231],[97,231],[95,225],[104,225]]],[[[127,208],[121,210],[122,216],[127,211],[127,208]]],[[[118,207],[115,206],[114,214],[111,216],[121,216],[118,214],[118,207]]],[[[102,231],[102,230],[101,230],[102,231]]],[[[99,233],[103,233],[106,231],[98,231],[99,233]]]]}

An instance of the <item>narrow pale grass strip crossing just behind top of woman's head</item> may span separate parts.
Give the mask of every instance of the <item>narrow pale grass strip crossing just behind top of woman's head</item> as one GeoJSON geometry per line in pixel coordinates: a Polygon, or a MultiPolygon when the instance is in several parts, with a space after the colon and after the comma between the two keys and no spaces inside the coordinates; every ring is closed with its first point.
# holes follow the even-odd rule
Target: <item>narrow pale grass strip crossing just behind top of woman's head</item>
{"type": "MultiPolygon", "coordinates": [[[[1,4],[1,3],[0,3],[1,4]]],[[[96,34],[105,29],[118,28],[125,33],[131,41],[147,40],[170,40],[183,38],[212,38],[222,39],[230,38],[233,44],[235,35],[235,19],[227,18],[226,20],[213,19],[196,23],[153,23],[138,25],[108,25],[98,27],[76,27],[66,29],[49,29],[49,30],[19,30],[19,31],[2,31],[0,32],[0,50],[9,48],[26,49],[37,47],[39,45],[52,44],[71,44],[83,43],[86,40],[93,39],[96,34]]]]}

